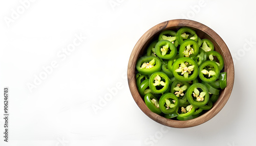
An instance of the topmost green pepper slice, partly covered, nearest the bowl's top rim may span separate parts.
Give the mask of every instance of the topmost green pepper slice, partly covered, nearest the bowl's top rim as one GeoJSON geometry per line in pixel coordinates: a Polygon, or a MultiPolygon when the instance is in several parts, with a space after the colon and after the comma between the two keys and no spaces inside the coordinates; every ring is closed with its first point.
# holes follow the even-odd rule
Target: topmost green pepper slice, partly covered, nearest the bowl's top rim
{"type": "Polygon", "coordinates": [[[178,30],[176,34],[176,39],[178,43],[181,45],[185,39],[193,39],[197,41],[198,36],[193,29],[184,27],[178,30]],[[191,37],[189,37],[189,34],[191,34],[191,37]]]}

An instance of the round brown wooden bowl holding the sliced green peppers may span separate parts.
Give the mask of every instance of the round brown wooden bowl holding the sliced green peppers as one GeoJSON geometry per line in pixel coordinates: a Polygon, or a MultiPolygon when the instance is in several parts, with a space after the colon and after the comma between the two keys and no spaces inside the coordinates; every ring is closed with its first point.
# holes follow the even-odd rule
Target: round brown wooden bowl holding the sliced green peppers
{"type": "Polygon", "coordinates": [[[227,103],[229,99],[229,96],[233,88],[234,66],[227,45],[215,31],[211,30],[202,23],[196,21],[186,19],[175,19],[159,23],[158,25],[154,26],[142,35],[142,37],[139,39],[139,41],[133,48],[128,64],[127,78],[130,91],[136,104],[148,117],[165,126],[175,128],[187,128],[205,123],[206,121],[214,117],[224,107],[224,105],[227,103]],[[218,101],[212,106],[212,108],[209,111],[205,112],[197,118],[186,121],[168,119],[152,112],[150,109],[147,108],[144,102],[144,97],[140,96],[136,86],[136,62],[138,58],[145,53],[146,48],[152,42],[152,40],[158,38],[160,32],[164,30],[173,30],[177,32],[178,29],[180,29],[181,27],[189,27],[195,30],[197,35],[201,39],[207,38],[212,43],[214,43],[215,51],[219,52],[223,56],[224,71],[227,72],[227,87],[220,92],[218,101]]]}

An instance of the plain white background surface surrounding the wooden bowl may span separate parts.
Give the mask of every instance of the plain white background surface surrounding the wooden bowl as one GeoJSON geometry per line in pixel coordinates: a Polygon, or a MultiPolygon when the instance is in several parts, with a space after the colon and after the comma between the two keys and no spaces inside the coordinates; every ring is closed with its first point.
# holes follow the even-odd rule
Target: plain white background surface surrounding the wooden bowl
{"type": "Polygon", "coordinates": [[[36,0],[26,8],[24,1],[0,2],[0,145],[256,145],[256,1],[36,0]],[[235,63],[225,107],[186,129],[147,117],[126,79],[139,38],[177,18],[216,31],[235,63]],[[73,41],[77,46],[63,55],[73,41]],[[46,74],[43,68],[51,62],[57,65],[46,74]],[[35,85],[40,75],[47,77],[35,85]],[[9,142],[2,136],[5,86],[10,87],[9,142]]]}

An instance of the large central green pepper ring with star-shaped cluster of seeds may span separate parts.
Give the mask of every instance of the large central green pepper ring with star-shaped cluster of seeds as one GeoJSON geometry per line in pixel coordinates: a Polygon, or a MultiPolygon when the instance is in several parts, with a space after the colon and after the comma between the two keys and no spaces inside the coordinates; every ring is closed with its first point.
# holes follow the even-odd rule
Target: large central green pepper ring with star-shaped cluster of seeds
{"type": "Polygon", "coordinates": [[[173,64],[173,74],[180,81],[195,80],[198,76],[198,65],[191,58],[179,58],[173,64]]]}

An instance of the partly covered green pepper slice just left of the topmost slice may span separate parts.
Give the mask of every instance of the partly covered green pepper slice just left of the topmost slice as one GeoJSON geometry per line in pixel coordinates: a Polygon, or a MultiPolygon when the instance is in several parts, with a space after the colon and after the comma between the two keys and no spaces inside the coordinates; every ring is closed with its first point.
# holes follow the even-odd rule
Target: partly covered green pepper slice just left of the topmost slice
{"type": "Polygon", "coordinates": [[[158,41],[160,40],[168,40],[172,42],[176,47],[179,45],[178,41],[176,40],[176,32],[174,31],[167,30],[161,32],[158,37],[158,41]]]}

